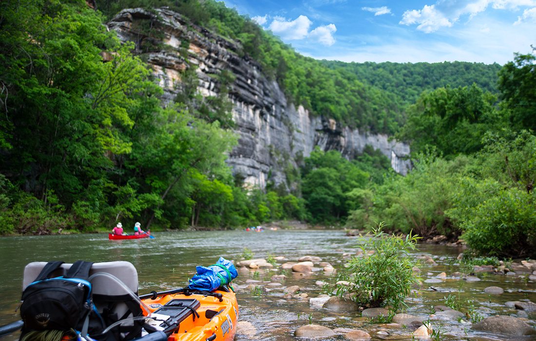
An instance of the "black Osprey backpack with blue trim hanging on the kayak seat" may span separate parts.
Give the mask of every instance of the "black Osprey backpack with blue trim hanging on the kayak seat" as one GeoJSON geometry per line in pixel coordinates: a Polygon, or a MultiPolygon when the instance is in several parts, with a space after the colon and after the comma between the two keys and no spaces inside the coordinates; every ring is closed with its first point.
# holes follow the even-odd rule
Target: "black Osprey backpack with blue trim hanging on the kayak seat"
{"type": "Polygon", "coordinates": [[[24,290],[20,316],[27,331],[75,329],[85,337],[93,310],[91,262],[75,262],[65,276],[49,278],[64,262],[49,262],[24,290]]]}

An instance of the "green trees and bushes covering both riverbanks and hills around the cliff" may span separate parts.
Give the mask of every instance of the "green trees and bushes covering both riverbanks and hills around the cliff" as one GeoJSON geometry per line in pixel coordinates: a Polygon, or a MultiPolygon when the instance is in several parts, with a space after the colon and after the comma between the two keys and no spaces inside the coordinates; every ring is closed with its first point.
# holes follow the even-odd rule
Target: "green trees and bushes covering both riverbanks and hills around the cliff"
{"type": "MultiPolygon", "coordinates": [[[[482,254],[534,256],[534,55],[502,67],[316,61],[221,2],[96,3],[102,13],[79,0],[0,3],[0,233],[386,221],[482,254]],[[102,25],[162,5],[239,41],[312,114],[411,143],[413,170],[395,174],[369,147],[353,160],[315,150],[295,160],[292,192],[271,179],[244,187],[225,163],[237,143],[225,96],[197,94],[190,69],[164,103],[134,45],[102,25]]],[[[225,95],[233,77],[219,77],[225,95]]]]}

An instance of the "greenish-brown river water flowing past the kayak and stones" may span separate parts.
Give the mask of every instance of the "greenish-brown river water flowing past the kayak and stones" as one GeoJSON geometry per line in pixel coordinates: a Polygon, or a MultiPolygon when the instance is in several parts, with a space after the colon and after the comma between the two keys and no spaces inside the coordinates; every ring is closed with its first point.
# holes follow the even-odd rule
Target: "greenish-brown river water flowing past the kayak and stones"
{"type": "MultiPolygon", "coordinates": [[[[264,232],[212,231],[212,232],[161,232],[155,239],[110,241],[106,234],[16,236],[0,238],[0,325],[19,319],[15,312],[21,295],[24,266],[33,261],[63,260],[74,262],[128,261],[136,266],[139,276],[139,293],[152,290],[168,290],[185,286],[195,273],[196,265],[211,265],[220,256],[240,261],[244,249],[251,250],[254,258],[283,256],[288,261],[311,255],[331,263],[336,270],[343,269],[343,255],[355,254],[356,238],[343,231],[333,230],[279,230],[264,232]]],[[[454,247],[421,244],[411,256],[430,255],[436,266],[421,265],[423,279],[434,278],[446,272],[440,283],[423,284],[422,289],[407,300],[407,313],[428,318],[435,305],[445,305],[445,298],[452,295],[465,308],[483,317],[516,315],[515,308],[505,305],[508,301],[536,302],[536,284],[528,277],[478,273],[480,281],[450,278],[459,271],[456,257],[462,250],[454,247]],[[431,289],[433,286],[435,289],[431,289]],[[485,287],[504,289],[500,295],[490,295],[485,287]]],[[[282,262],[279,262],[279,265],[282,262]]],[[[316,265],[315,265],[316,266],[316,265]]],[[[234,285],[239,301],[239,321],[247,321],[255,328],[255,336],[237,335],[235,340],[250,338],[260,340],[295,340],[294,331],[309,323],[331,329],[360,329],[370,333],[373,340],[411,340],[411,328],[385,329],[356,313],[332,313],[323,308],[311,308],[307,299],[285,298],[284,288],[300,286],[300,292],[315,298],[322,293],[317,281],[334,283],[336,275],[321,269],[307,276],[293,274],[290,270],[274,269],[240,271],[234,285]],[[281,285],[271,283],[273,275],[285,275],[281,285]],[[379,332],[379,333],[378,333],[379,332]]],[[[430,317],[431,324],[441,333],[441,340],[517,340],[500,334],[478,332],[471,329],[469,318],[450,320],[430,317]]],[[[529,312],[524,321],[536,324],[536,313],[529,312]]],[[[13,334],[3,339],[16,340],[13,334]]],[[[344,333],[329,338],[344,340],[344,333]]]]}

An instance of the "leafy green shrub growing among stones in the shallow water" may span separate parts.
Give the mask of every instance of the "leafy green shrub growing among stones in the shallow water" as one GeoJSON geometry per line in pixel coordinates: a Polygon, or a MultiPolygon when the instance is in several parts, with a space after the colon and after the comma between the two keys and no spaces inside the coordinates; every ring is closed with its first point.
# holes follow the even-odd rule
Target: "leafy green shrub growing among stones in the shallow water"
{"type": "Polygon", "coordinates": [[[382,231],[384,226],[382,222],[373,228],[371,238],[359,238],[366,256],[355,256],[347,262],[347,271],[339,279],[348,280],[350,285],[340,286],[337,293],[349,293],[363,307],[389,305],[396,310],[405,306],[404,299],[412,284],[419,280],[412,270],[416,261],[408,257],[419,237],[411,232],[406,236],[388,235],[382,231]],[[374,250],[374,254],[367,255],[369,250],[374,250]]]}

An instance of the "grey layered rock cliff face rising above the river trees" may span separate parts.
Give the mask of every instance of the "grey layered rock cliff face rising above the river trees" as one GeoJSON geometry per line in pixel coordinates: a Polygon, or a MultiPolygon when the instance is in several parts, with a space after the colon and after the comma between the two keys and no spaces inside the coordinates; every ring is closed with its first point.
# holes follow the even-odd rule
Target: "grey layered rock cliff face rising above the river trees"
{"type": "Polygon", "coordinates": [[[140,37],[144,36],[138,27],[143,23],[157,25],[159,36],[153,41],[158,39],[159,46],[165,47],[144,53],[144,58],[159,79],[166,101],[173,101],[182,91],[183,71],[191,65],[197,66],[197,91],[204,97],[218,96],[221,83],[215,76],[222,71],[235,76],[228,85],[228,95],[239,145],[227,162],[245,182],[261,188],[267,181],[291,187],[286,172],[296,167],[296,161],[308,157],[315,146],[340,151],[351,159],[371,145],[391,160],[396,172],[406,174],[410,168],[409,161],[401,159],[410,152],[408,145],[389,141],[386,135],[341,127],[334,120],[312,116],[302,106],[295,107],[277,82],[263,75],[260,64],[241,53],[238,43],[192,25],[176,12],[165,8],[154,12],[127,9],[118,13],[108,27],[139,48],[140,37]]]}

